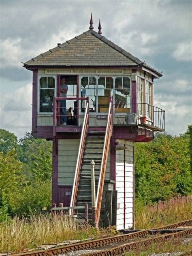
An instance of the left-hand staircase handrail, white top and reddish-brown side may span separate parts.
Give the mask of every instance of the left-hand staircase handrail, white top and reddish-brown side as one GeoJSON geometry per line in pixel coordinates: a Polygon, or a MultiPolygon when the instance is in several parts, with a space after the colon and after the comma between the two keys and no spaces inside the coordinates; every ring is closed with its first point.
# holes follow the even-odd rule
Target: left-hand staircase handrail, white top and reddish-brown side
{"type": "MultiPolygon", "coordinates": [[[[80,143],[79,143],[77,164],[76,164],[76,168],[75,168],[75,177],[74,177],[74,181],[73,181],[73,190],[72,190],[72,194],[71,194],[70,207],[75,206],[75,202],[76,202],[76,198],[77,198],[80,170],[81,170],[81,164],[82,164],[82,159],[83,159],[83,150],[84,150],[84,146],[85,146],[85,139],[86,139],[86,135],[87,135],[88,125],[89,125],[89,102],[87,100],[85,116],[84,116],[84,120],[83,120],[82,131],[81,131],[81,139],[80,139],[80,143]]],[[[70,209],[69,214],[70,215],[73,214],[73,209],[70,209]]]]}

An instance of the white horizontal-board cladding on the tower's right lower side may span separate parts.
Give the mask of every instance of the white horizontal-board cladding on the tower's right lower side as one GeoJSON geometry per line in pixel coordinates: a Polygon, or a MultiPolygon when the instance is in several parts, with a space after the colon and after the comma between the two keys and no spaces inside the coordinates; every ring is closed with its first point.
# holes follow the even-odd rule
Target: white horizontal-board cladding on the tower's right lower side
{"type": "Polygon", "coordinates": [[[116,151],[117,229],[133,227],[134,143],[117,140],[127,147],[116,151]]]}

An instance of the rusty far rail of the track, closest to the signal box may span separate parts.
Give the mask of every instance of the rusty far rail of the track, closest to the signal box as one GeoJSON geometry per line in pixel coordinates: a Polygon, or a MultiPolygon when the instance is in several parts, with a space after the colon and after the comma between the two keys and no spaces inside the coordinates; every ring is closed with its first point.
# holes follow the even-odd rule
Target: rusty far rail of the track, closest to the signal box
{"type": "MultiPolygon", "coordinates": [[[[163,226],[161,228],[158,228],[158,230],[178,228],[178,227],[182,227],[182,226],[192,226],[192,220],[186,220],[186,221],[182,221],[182,222],[177,222],[175,224],[163,226]]],[[[130,239],[134,239],[134,238],[145,237],[146,235],[149,235],[151,230],[156,230],[156,229],[157,228],[153,228],[153,229],[148,229],[148,230],[137,231],[134,233],[124,234],[124,235],[117,235],[114,237],[106,237],[106,238],[102,238],[102,239],[86,241],[86,242],[81,242],[81,243],[74,243],[74,244],[64,245],[64,246],[60,246],[60,247],[52,247],[52,248],[45,249],[45,250],[36,250],[36,251],[12,254],[11,256],[21,256],[21,255],[43,256],[43,255],[64,254],[64,253],[71,252],[71,251],[89,249],[89,248],[93,248],[96,246],[124,242],[124,241],[129,241],[130,239]]]]}

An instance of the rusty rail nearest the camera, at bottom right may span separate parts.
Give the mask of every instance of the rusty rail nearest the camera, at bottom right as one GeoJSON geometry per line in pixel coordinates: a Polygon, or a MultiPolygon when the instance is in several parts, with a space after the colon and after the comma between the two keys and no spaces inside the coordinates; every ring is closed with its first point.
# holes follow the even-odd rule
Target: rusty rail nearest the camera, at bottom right
{"type": "Polygon", "coordinates": [[[118,255],[124,255],[126,252],[134,249],[138,249],[142,245],[145,245],[147,248],[149,245],[152,243],[157,243],[157,242],[164,242],[168,239],[171,238],[180,238],[180,237],[186,237],[188,235],[192,234],[192,228],[183,230],[177,233],[172,233],[172,234],[166,234],[166,235],[161,235],[158,237],[152,237],[149,239],[143,239],[139,240],[136,242],[131,242],[131,243],[125,243],[123,245],[119,245],[116,247],[109,248],[107,250],[100,250],[98,252],[92,252],[92,253],[87,253],[87,254],[82,254],[83,256],[118,256],[118,255]]]}

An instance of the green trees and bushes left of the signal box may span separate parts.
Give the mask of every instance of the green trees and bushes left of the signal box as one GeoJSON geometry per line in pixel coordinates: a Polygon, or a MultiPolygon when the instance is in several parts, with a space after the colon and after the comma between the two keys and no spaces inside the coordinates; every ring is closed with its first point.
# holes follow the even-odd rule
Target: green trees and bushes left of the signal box
{"type": "Polygon", "coordinates": [[[0,220],[51,206],[52,143],[0,129],[0,220]]]}

